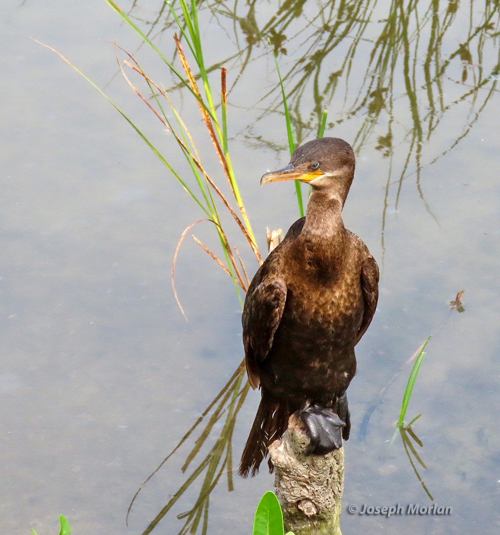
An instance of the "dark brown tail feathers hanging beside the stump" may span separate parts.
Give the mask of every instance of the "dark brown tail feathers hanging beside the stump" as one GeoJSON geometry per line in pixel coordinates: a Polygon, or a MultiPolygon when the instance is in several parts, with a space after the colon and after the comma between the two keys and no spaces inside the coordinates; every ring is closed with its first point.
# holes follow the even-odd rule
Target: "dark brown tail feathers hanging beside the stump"
{"type": "MultiPolygon", "coordinates": [[[[275,398],[264,387],[261,392],[259,408],[241,456],[239,473],[242,477],[247,477],[250,471],[252,477],[256,475],[260,463],[267,455],[267,447],[281,438],[288,427],[288,418],[294,412],[290,411],[288,400],[275,398]]],[[[271,462],[269,469],[270,472],[273,471],[271,462]]]]}

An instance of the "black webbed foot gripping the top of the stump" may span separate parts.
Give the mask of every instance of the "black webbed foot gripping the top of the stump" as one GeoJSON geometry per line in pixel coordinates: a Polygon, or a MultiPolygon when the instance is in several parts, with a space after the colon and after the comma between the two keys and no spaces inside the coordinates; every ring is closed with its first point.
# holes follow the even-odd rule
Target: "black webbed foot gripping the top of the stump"
{"type": "MultiPolygon", "coordinates": [[[[347,398],[345,399],[345,407],[347,408],[347,398]]],[[[349,416],[349,410],[347,415],[349,416]]],[[[302,410],[299,416],[307,427],[311,438],[305,452],[306,455],[326,455],[334,449],[342,447],[343,429],[346,423],[339,416],[318,404],[313,404],[302,410]]]]}

